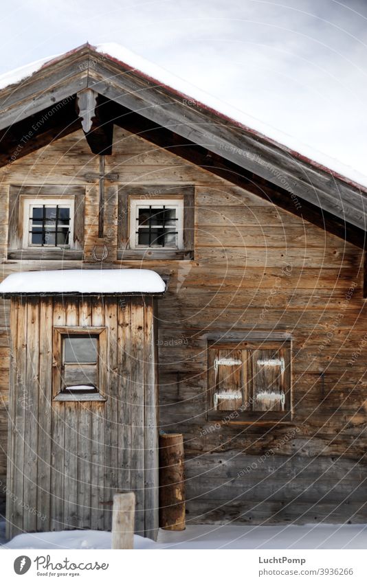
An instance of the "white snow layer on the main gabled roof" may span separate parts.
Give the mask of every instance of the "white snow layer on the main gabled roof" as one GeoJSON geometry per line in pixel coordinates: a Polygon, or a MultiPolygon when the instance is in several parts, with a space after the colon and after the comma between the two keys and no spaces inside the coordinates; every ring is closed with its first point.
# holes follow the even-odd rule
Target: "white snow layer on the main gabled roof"
{"type": "MultiPolygon", "coordinates": [[[[307,144],[303,144],[296,137],[283,133],[278,128],[269,126],[269,124],[265,124],[260,119],[252,117],[252,115],[223,102],[223,100],[215,98],[210,93],[167,71],[163,67],[155,65],[155,63],[146,58],[133,53],[129,49],[126,49],[126,47],[118,43],[103,43],[101,45],[89,46],[92,50],[114,60],[118,64],[142,74],[142,76],[151,80],[157,87],[164,85],[174,93],[181,93],[181,96],[187,98],[188,101],[192,100],[192,102],[203,106],[203,108],[210,108],[217,114],[229,118],[230,121],[242,126],[245,130],[263,135],[263,137],[274,141],[279,146],[285,146],[294,157],[306,158],[309,163],[322,165],[324,170],[334,172],[341,179],[349,179],[357,186],[363,185],[367,187],[367,176],[365,174],[358,172],[354,168],[351,168],[351,166],[345,165],[335,158],[327,156],[323,152],[319,152],[307,144]]],[[[24,81],[36,73],[36,71],[42,69],[42,67],[51,64],[54,60],[60,60],[60,58],[63,58],[67,54],[49,56],[25,65],[25,67],[19,67],[8,73],[3,73],[3,75],[0,75],[0,91],[9,85],[24,81]]]]}

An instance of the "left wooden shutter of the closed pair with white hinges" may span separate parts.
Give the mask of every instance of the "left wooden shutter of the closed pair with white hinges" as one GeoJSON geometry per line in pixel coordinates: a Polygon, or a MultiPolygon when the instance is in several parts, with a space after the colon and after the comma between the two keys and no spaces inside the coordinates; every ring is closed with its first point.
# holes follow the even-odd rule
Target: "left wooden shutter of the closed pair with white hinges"
{"type": "Polygon", "coordinates": [[[235,411],[244,402],[243,351],[211,348],[210,388],[214,411],[235,411]]]}

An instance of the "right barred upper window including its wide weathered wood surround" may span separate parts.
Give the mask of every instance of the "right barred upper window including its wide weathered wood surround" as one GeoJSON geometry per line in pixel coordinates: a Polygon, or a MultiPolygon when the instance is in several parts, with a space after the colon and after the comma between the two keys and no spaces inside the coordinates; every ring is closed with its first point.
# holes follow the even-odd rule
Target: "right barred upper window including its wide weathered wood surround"
{"type": "Polygon", "coordinates": [[[118,228],[119,259],[193,259],[194,188],[120,187],[118,228]]]}

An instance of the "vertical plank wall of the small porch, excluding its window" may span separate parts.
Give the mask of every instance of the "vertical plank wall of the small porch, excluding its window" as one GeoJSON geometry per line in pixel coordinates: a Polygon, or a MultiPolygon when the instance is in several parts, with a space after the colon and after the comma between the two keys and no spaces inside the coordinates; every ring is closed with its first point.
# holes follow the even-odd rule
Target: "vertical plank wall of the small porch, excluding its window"
{"type": "Polygon", "coordinates": [[[8,536],[23,530],[110,530],[113,494],[134,483],[137,531],[153,537],[157,463],[144,455],[145,445],[157,442],[157,407],[151,402],[149,413],[144,407],[144,398],[157,394],[153,299],[145,304],[108,297],[15,299],[12,321],[8,491],[14,495],[7,499],[8,536]],[[52,401],[53,324],[107,327],[106,402],[52,401]]]}

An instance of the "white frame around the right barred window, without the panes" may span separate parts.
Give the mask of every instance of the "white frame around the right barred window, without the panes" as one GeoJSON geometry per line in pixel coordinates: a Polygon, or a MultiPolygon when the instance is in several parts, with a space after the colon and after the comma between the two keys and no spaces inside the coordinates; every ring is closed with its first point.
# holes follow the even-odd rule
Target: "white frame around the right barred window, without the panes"
{"type": "Polygon", "coordinates": [[[144,198],[131,198],[130,200],[130,219],[129,219],[129,244],[131,249],[154,249],[161,251],[164,249],[183,249],[183,198],[152,198],[146,200],[144,198]],[[177,222],[177,245],[174,247],[149,247],[148,245],[137,244],[138,230],[137,218],[139,209],[148,209],[149,207],[162,207],[168,209],[176,209],[177,222]]]}

